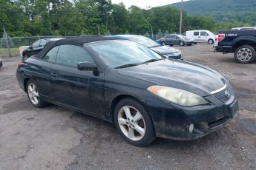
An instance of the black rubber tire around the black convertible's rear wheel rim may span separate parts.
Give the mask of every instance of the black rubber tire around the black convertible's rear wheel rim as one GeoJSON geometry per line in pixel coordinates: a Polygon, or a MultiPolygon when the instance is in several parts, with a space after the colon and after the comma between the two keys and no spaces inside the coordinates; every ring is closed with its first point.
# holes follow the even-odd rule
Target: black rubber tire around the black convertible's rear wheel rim
{"type": "Polygon", "coordinates": [[[32,97],[30,97],[31,93],[30,93],[30,90],[29,90],[29,86],[31,84],[34,84],[36,86],[36,83],[33,80],[30,79],[29,81],[27,81],[26,88],[27,88],[27,98],[30,101],[30,103],[32,104],[32,106],[34,106],[36,108],[41,108],[41,107],[47,106],[47,103],[42,100],[42,98],[40,96],[40,90],[38,89],[37,86],[36,86],[36,92],[38,93],[38,97],[36,97],[36,98],[38,100],[38,103],[35,103],[35,101],[32,100],[32,97]]]}

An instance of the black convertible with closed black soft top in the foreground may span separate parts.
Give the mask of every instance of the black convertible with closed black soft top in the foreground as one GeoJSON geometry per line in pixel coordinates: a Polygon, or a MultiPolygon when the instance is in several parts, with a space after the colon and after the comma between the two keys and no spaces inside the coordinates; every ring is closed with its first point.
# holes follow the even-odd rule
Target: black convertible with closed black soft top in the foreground
{"type": "Polygon", "coordinates": [[[54,103],[110,121],[135,146],[203,137],[238,109],[220,72],[116,38],[49,42],[18,64],[16,77],[33,106],[54,103]]]}

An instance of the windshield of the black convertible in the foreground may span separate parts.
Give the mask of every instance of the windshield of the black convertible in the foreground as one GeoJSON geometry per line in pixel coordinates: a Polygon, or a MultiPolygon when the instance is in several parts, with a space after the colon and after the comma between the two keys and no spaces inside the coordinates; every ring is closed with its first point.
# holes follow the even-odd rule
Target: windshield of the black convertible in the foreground
{"type": "Polygon", "coordinates": [[[153,50],[132,41],[102,41],[88,44],[109,67],[133,67],[163,58],[153,50]]]}

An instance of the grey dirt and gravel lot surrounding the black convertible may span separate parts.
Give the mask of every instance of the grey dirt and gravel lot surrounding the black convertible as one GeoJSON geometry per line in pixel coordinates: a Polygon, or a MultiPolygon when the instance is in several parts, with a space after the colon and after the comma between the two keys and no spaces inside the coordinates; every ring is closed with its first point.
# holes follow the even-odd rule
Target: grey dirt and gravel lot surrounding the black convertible
{"type": "Polygon", "coordinates": [[[256,169],[256,62],[237,64],[208,44],[177,48],[231,82],[240,112],[223,129],[200,140],[158,138],[137,148],[111,123],[59,106],[33,108],[16,82],[20,58],[3,58],[0,169],[256,169]]]}

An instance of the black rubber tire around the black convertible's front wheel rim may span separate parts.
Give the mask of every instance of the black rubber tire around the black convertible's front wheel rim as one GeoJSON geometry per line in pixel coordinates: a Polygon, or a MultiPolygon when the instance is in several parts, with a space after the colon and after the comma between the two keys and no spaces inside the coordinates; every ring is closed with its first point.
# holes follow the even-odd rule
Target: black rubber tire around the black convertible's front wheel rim
{"type": "MultiPolygon", "coordinates": [[[[131,112],[132,113],[132,112],[131,112]]],[[[124,113],[125,114],[125,113],[124,113]]],[[[132,117],[134,118],[134,117],[132,117]]],[[[126,121],[127,119],[125,119],[126,121]]],[[[142,119],[141,119],[142,120],[142,119]]],[[[132,119],[131,119],[132,121],[132,119]]],[[[114,109],[114,123],[116,125],[116,129],[119,131],[119,134],[128,142],[131,143],[134,146],[147,146],[149,143],[151,143],[155,138],[155,130],[154,130],[154,124],[150,118],[150,115],[148,114],[148,112],[146,111],[146,109],[144,108],[144,106],[142,106],[142,104],[140,103],[140,101],[137,101],[134,98],[124,98],[122,99],[122,101],[119,101],[119,103],[117,103],[115,109],[114,109]],[[137,109],[137,111],[140,112],[140,114],[142,115],[142,118],[144,121],[142,121],[143,123],[145,123],[145,133],[144,136],[142,136],[142,138],[140,140],[131,140],[130,138],[128,138],[124,132],[122,132],[121,127],[119,126],[119,121],[118,121],[118,116],[119,116],[119,112],[122,112],[122,108],[124,106],[131,106],[134,107],[135,109],[137,109]]],[[[136,123],[134,121],[134,123],[136,123]]],[[[128,127],[128,123],[126,121],[126,124],[124,126],[127,126],[127,131],[129,130],[128,127]],[[127,124],[127,125],[126,125],[127,124]]],[[[134,132],[135,133],[135,132],[134,132]]],[[[138,133],[139,134],[139,133],[138,133]]],[[[139,134],[140,135],[140,134],[139,134]]]]}

